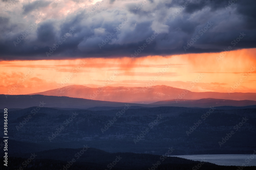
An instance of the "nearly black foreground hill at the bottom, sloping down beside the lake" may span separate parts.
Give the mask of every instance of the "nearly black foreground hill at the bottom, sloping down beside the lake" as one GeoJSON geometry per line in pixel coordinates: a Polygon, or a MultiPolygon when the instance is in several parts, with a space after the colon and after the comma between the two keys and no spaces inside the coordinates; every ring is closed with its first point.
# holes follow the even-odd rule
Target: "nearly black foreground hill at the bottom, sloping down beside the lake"
{"type": "MultiPolygon", "coordinates": [[[[175,152],[173,148],[166,148],[165,153],[162,155],[152,154],[139,154],[139,153],[108,153],[94,148],[77,149],[52,149],[36,153],[24,153],[9,157],[8,167],[12,169],[22,169],[22,165],[26,167],[29,163],[28,158],[33,158],[33,162],[29,164],[27,169],[71,169],[71,170],[148,170],[148,169],[196,169],[200,166],[202,170],[205,169],[220,169],[232,170],[236,166],[221,166],[207,162],[203,159],[200,161],[192,161],[184,158],[168,156],[169,153],[175,152]],[[166,155],[166,156],[165,156],[166,155]],[[34,159],[35,158],[35,159],[34,159]],[[21,163],[23,164],[21,165],[21,163]],[[156,168],[155,168],[156,167],[156,168]]],[[[1,169],[7,169],[3,164],[0,165],[1,169]]],[[[245,170],[255,169],[255,166],[243,167],[245,170]]]]}

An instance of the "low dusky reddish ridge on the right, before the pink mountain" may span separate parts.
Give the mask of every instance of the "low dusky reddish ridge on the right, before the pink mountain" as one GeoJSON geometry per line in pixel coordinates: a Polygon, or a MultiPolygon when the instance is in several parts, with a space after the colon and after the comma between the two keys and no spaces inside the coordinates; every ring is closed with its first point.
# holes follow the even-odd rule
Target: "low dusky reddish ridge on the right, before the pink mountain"
{"type": "Polygon", "coordinates": [[[178,106],[178,107],[219,107],[219,106],[251,106],[256,105],[254,100],[226,100],[226,99],[199,99],[199,100],[164,100],[151,103],[158,106],[178,106]]]}

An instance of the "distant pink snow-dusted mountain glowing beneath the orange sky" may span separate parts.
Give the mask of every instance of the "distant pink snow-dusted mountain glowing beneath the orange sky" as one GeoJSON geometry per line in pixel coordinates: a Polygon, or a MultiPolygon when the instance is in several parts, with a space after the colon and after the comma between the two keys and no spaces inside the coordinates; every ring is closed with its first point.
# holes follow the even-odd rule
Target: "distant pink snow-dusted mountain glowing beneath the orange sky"
{"type": "Polygon", "coordinates": [[[256,100],[256,93],[218,93],[218,92],[192,92],[165,85],[151,87],[101,87],[90,88],[82,85],[71,85],[29,95],[68,96],[74,98],[93,99],[101,101],[153,103],[160,100],[172,99],[230,99],[230,100],[256,100]]]}

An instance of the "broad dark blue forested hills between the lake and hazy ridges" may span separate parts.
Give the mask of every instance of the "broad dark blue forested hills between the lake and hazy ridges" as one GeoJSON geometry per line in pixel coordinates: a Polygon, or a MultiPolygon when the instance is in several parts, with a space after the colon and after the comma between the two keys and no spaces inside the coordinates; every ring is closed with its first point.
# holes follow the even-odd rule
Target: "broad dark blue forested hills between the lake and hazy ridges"
{"type": "MultiPolygon", "coordinates": [[[[44,107],[31,114],[36,108],[8,111],[8,132],[11,132],[8,140],[21,141],[10,141],[12,150],[8,153],[80,148],[83,145],[111,153],[159,155],[169,147],[175,149],[175,155],[251,154],[255,149],[256,109],[155,107],[128,109],[121,115],[116,114],[121,110],[44,107]],[[219,141],[231,130],[235,132],[232,140],[220,145],[219,141]],[[20,146],[23,147],[15,148],[20,146]]],[[[0,119],[0,124],[4,124],[4,119],[0,119]]]]}

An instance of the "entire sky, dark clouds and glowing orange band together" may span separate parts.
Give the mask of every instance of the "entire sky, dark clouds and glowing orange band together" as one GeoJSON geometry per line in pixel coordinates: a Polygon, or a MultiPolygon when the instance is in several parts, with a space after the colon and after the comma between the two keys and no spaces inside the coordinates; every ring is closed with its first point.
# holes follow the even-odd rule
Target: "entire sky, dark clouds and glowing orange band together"
{"type": "Polygon", "coordinates": [[[0,93],[73,84],[256,93],[255,6],[255,0],[1,0],[0,93]]]}

